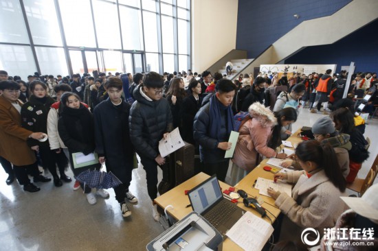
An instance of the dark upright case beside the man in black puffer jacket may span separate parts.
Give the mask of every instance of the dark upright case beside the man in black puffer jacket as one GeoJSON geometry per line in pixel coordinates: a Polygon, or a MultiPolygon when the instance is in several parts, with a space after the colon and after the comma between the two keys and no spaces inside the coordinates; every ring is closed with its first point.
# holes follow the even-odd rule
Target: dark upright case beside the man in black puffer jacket
{"type": "Polygon", "coordinates": [[[194,145],[185,145],[175,152],[175,186],[194,176],[194,145]]]}

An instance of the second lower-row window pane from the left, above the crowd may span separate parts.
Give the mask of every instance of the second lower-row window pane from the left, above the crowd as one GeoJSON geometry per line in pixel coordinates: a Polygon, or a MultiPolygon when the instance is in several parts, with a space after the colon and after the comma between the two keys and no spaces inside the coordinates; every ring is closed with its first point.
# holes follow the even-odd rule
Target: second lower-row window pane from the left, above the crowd
{"type": "Polygon", "coordinates": [[[36,47],[36,56],[42,74],[68,75],[63,48],[36,47]]]}

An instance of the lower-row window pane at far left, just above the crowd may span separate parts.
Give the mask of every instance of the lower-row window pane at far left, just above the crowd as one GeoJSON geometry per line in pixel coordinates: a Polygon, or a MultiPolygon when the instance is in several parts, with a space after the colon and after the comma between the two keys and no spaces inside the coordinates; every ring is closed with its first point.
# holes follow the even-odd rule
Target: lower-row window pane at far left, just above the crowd
{"type": "Polygon", "coordinates": [[[27,75],[36,71],[32,49],[30,46],[1,45],[0,67],[10,76],[19,75],[27,80],[27,75]]]}

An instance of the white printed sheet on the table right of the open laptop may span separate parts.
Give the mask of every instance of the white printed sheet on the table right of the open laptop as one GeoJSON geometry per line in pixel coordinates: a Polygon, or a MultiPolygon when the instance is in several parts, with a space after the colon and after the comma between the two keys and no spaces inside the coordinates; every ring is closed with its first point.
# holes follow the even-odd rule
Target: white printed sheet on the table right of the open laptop
{"type": "Polygon", "coordinates": [[[262,250],[273,233],[271,224],[251,212],[245,213],[226,233],[243,250],[262,250]]]}

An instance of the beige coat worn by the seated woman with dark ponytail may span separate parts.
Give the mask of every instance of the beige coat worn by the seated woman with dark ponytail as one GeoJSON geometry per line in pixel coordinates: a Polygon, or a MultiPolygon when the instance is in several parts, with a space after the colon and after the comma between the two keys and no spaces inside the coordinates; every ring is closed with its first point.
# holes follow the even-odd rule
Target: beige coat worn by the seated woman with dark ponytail
{"type": "Polygon", "coordinates": [[[324,228],[335,226],[337,218],[346,209],[346,204],[340,199],[346,193],[333,185],[324,170],[311,178],[305,171],[292,171],[288,173],[287,182],[296,185],[291,192],[292,198],[280,193],[276,199],[276,206],[290,219],[282,222],[280,240],[289,238],[285,235],[298,238],[304,228],[315,228],[322,234],[324,228]]]}

